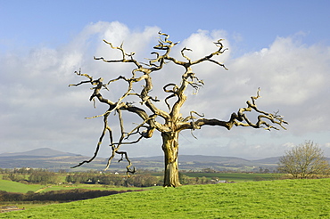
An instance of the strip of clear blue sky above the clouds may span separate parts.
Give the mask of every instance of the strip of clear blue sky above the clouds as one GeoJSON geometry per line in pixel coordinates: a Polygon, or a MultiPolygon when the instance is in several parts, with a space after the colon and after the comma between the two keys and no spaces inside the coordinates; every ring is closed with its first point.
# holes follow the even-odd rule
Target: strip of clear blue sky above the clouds
{"type": "Polygon", "coordinates": [[[12,46],[65,44],[88,23],[115,21],[128,28],[158,26],[181,40],[197,29],[225,29],[240,36],[242,50],[270,45],[275,37],[298,32],[304,43],[329,44],[328,1],[2,1],[1,38],[12,46]]]}

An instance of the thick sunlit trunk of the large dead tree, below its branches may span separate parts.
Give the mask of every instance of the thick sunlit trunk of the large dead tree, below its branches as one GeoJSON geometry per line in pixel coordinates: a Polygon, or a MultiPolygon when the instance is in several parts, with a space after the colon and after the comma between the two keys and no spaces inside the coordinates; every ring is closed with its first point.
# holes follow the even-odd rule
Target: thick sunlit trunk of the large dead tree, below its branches
{"type": "Polygon", "coordinates": [[[161,133],[165,158],[164,187],[180,186],[178,180],[178,132],[161,133]]]}

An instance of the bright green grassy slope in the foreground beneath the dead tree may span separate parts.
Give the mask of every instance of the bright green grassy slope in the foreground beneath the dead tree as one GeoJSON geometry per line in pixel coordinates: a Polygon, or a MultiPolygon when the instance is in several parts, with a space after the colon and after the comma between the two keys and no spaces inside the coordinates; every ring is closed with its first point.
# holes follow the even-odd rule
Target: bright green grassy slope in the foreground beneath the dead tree
{"type": "Polygon", "coordinates": [[[3,213],[0,218],[330,218],[330,179],[187,185],[3,213]]]}

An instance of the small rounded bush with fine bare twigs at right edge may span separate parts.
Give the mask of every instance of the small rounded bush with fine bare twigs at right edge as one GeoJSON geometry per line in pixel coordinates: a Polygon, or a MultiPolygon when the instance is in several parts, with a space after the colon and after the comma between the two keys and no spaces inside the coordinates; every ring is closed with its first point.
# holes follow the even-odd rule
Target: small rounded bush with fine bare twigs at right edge
{"type": "Polygon", "coordinates": [[[318,144],[306,141],[292,150],[285,151],[279,159],[278,170],[291,174],[293,178],[306,179],[317,174],[328,174],[329,163],[318,144]]]}

